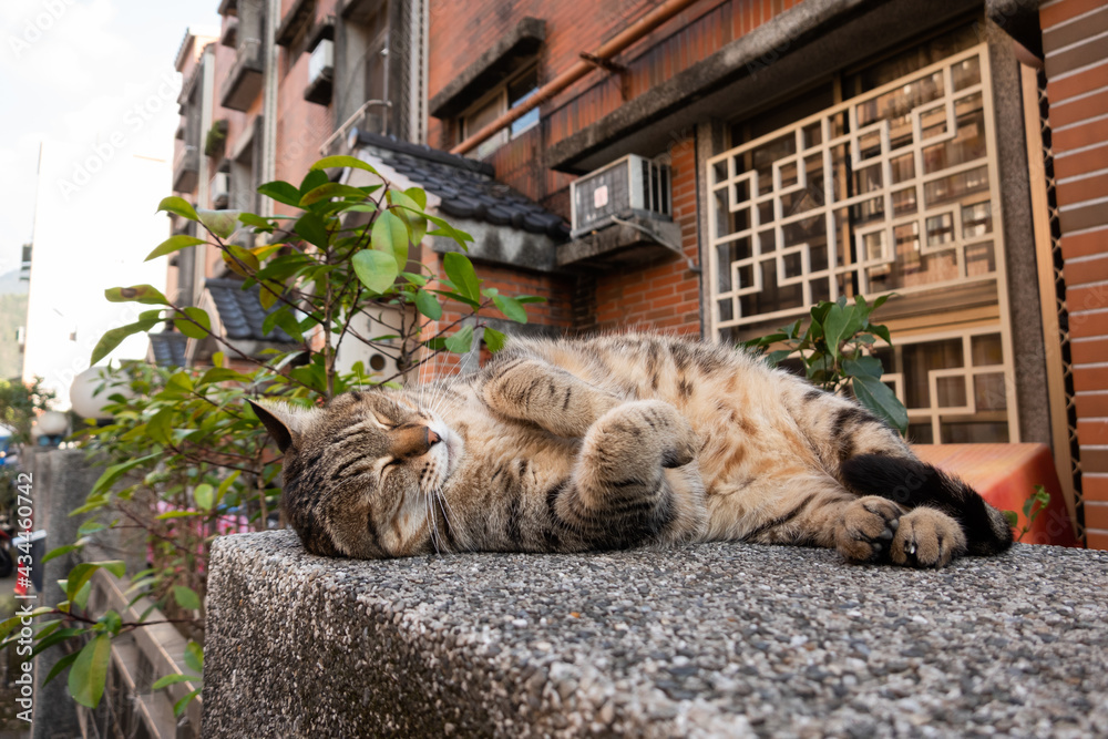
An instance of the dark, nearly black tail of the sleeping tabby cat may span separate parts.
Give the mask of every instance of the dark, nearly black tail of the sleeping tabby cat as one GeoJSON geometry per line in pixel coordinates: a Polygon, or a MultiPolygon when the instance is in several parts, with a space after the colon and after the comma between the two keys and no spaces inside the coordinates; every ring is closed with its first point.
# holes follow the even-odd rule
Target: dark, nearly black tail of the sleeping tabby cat
{"type": "Polygon", "coordinates": [[[970,554],[999,554],[1012,545],[1004,514],[964,481],[916,459],[859,454],[843,462],[843,482],[859,495],[878,495],[914,509],[937,509],[958,522],[970,554]]]}

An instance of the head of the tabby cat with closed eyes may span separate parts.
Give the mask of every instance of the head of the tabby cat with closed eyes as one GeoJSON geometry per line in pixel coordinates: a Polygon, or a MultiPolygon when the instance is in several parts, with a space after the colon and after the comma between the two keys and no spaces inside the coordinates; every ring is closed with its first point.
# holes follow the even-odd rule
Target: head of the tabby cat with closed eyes
{"type": "Polygon", "coordinates": [[[440,419],[381,390],[322,409],[250,406],[285,454],[281,506],[305,548],[361,560],[434,551],[445,515],[434,496],[462,453],[440,419]]]}

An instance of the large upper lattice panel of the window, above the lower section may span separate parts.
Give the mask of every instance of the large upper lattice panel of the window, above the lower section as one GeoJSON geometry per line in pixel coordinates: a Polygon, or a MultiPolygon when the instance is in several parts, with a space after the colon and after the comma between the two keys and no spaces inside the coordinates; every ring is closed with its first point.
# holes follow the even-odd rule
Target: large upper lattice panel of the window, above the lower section
{"type": "Polygon", "coordinates": [[[712,335],[860,292],[997,279],[983,47],[708,162],[712,335]]]}

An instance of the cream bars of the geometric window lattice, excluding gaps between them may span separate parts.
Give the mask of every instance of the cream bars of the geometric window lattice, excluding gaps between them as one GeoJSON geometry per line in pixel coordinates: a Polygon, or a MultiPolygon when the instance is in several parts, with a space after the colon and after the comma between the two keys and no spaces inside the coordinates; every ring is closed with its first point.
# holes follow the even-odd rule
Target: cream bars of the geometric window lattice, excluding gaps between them
{"type": "MultiPolygon", "coordinates": [[[[905,93],[906,94],[906,93],[905,93]]],[[[869,109],[873,110],[873,107],[869,109]]],[[[708,336],[712,341],[724,340],[724,335],[752,324],[779,320],[782,324],[789,319],[807,315],[809,307],[815,302],[815,295],[823,299],[834,300],[839,297],[839,280],[851,279],[861,295],[872,299],[881,295],[895,292],[897,295],[921,294],[948,290],[967,285],[992,285],[999,312],[999,324],[982,329],[985,332],[1001,335],[1004,357],[1003,372],[1007,394],[1008,440],[1019,441],[1018,411],[1016,404],[1016,383],[1013,367],[1013,350],[1010,322],[1008,319],[1007,281],[1004,258],[1003,215],[1001,211],[999,177],[996,163],[996,134],[992,100],[992,79],[988,65],[988,47],[979,44],[963,52],[948,57],[935,64],[916,70],[888,84],[856,95],[819,113],[807,116],[790,125],[783,126],[759,136],[756,140],[735,146],[709,158],[706,164],[706,175],[709,194],[707,197],[708,217],[708,336]],[[967,65],[975,65],[979,79],[966,83],[960,82],[958,71],[967,65]],[[911,117],[911,138],[905,142],[901,136],[895,143],[891,136],[890,120],[876,117],[865,120],[868,104],[876,106],[879,99],[895,95],[897,90],[909,90],[909,85],[921,83],[929,79],[941,80],[937,94],[907,111],[911,117]],[[981,156],[960,162],[953,166],[931,168],[925,164],[924,150],[933,147],[957,133],[955,109],[960,101],[974,100],[979,102],[984,124],[985,151],[981,156]],[[848,131],[838,131],[837,120],[845,115],[849,121],[848,131]],[[935,121],[941,123],[938,134],[925,134],[925,125],[935,127],[935,121]],[[864,121],[864,125],[860,125],[864,121]],[[786,137],[789,137],[786,140],[786,137]],[[753,167],[739,171],[739,162],[743,155],[749,155],[759,147],[773,142],[791,142],[791,152],[772,160],[771,177],[766,187],[760,181],[766,179],[753,167]],[[845,193],[835,192],[834,181],[838,171],[832,162],[833,151],[845,151],[850,158],[851,170],[860,172],[866,167],[880,167],[880,182],[863,193],[844,197],[845,193]],[[896,179],[892,176],[892,163],[897,157],[912,156],[911,176],[896,179]],[[788,198],[798,197],[808,191],[809,174],[815,157],[822,163],[822,196],[819,202],[810,203],[799,213],[787,213],[788,198]],[[987,176],[987,201],[985,201],[986,217],[991,226],[985,233],[974,233],[972,224],[964,222],[964,208],[957,203],[946,203],[929,207],[929,185],[950,182],[951,177],[970,178],[975,173],[984,172],[987,176]],[[945,178],[945,179],[944,179],[945,178]],[[761,186],[761,191],[759,187],[761,186]],[[895,215],[894,195],[912,191],[917,207],[907,215],[895,215]],[[880,199],[880,213],[883,218],[875,219],[862,226],[852,227],[850,236],[853,239],[852,256],[839,261],[839,228],[835,214],[847,208],[865,207],[866,203],[880,199]],[[763,214],[768,218],[763,219],[763,214]],[[784,228],[800,222],[811,222],[813,218],[824,219],[821,236],[825,239],[825,256],[822,268],[813,269],[812,253],[808,243],[786,245],[784,228]],[[936,220],[937,219],[937,220],[936,220]],[[728,224],[725,233],[720,233],[721,224],[728,224]],[[948,230],[929,243],[929,234],[933,224],[942,223],[948,230]],[[731,225],[738,224],[738,225],[731,225]],[[956,275],[951,279],[896,287],[894,289],[871,289],[870,274],[874,268],[882,268],[895,261],[895,234],[900,227],[910,224],[915,228],[916,252],[926,257],[935,254],[952,255],[956,275]],[[724,258],[728,249],[742,245],[742,256],[724,258]],[[991,267],[984,273],[971,274],[967,268],[967,249],[981,252],[982,245],[992,248],[991,267]],[[722,264],[721,261],[726,261],[722,264]],[[773,263],[778,287],[799,286],[802,305],[776,310],[760,310],[752,315],[742,314],[743,296],[760,294],[766,286],[762,281],[762,263],[773,263]],[[721,306],[727,310],[721,311],[721,306]]],[[[934,193],[935,191],[930,191],[934,193]]],[[[982,193],[986,188],[982,187],[982,193]]],[[[815,191],[817,196],[820,192],[815,191]]],[[[894,298],[895,299],[895,298],[894,298]]],[[[974,329],[972,332],[981,332],[974,329]]],[[[932,337],[962,337],[971,333],[968,330],[953,329],[912,337],[912,342],[930,340],[932,337]]],[[[894,337],[895,341],[895,337],[894,337]]],[[[938,437],[935,437],[936,443],[938,437]]]]}

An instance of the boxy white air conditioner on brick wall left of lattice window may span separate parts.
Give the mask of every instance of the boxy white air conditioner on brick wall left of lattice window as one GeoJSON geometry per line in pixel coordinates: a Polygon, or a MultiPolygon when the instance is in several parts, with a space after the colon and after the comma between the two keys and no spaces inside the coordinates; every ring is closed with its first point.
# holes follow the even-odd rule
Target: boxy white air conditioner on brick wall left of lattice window
{"type": "Polygon", "coordinates": [[[573,238],[608,226],[615,218],[671,219],[669,165],[628,154],[570,185],[573,238]]]}

